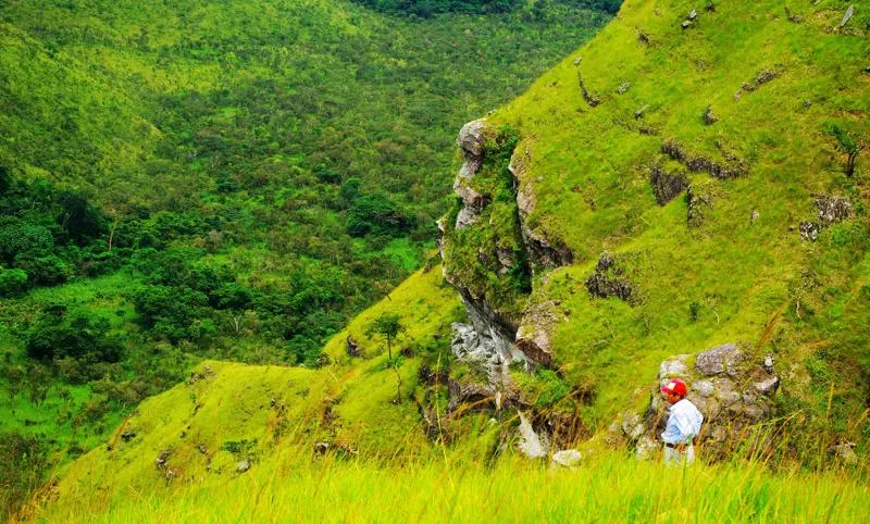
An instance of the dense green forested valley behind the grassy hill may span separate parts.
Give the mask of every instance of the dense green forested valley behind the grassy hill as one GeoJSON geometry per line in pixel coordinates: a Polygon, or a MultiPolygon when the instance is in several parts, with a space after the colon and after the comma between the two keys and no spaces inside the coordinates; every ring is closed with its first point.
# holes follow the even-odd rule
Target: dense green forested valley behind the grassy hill
{"type": "Polygon", "coordinates": [[[4,461],[75,457],[202,358],[318,365],[427,263],[459,126],[608,20],[460,3],[0,2],[4,461]]]}

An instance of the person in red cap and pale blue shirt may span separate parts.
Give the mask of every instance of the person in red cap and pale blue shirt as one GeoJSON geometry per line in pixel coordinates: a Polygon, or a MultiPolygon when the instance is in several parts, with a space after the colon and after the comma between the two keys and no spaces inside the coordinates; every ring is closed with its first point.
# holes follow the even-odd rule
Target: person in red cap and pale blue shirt
{"type": "Polygon", "coordinates": [[[695,460],[695,448],[692,446],[693,439],[700,432],[704,415],[698,408],[686,399],[688,388],[686,383],[679,378],[668,380],[661,386],[664,400],[671,404],[668,424],[661,439],[664,441],[664,463],[666,464],[686,464],[695,460]]]}

